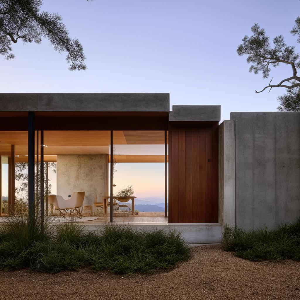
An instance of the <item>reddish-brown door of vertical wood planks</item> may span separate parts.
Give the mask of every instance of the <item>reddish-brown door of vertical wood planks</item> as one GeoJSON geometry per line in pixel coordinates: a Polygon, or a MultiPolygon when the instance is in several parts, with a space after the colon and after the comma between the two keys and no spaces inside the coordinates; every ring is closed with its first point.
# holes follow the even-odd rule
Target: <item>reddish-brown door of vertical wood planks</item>
{"type": "Polygon", "coordinates": [[[218,123],[169,126],[169,223],[218,222],[218,123]]]}

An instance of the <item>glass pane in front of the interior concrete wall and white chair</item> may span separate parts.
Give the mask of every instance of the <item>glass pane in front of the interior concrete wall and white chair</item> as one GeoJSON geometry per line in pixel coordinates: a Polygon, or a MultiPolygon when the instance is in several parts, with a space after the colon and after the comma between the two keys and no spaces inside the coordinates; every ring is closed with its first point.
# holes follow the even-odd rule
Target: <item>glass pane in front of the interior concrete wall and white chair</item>
{"type": "MultiPolygon", "coordinates": [[[[107,221],[103,198],[109,195],[109,147],[110,131],[44,131],[47,194],[70,199],[74,193],[84,192],[79,209],[83,220],[107,221]]],[[[49,213],[59,215],[57,207],[46,200],[49,213]]]]}

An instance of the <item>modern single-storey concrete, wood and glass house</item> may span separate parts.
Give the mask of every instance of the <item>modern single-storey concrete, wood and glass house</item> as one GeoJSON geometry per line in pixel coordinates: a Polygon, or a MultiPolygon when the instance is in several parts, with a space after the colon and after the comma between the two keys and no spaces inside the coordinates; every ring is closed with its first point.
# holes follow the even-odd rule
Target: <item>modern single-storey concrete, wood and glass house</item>
{"type": "Polygon", "coordinates": [[[231,113],[219,125],[219,105],[170,111],[168,93],[2,93],[8,206],[13,210],[16,162],[28,162],[34,210],[35,176],[44,172],[35,174],[37,159],[56,162],[57,194],[85,190],[84,205],[92,206],[95,195],[113,196],[113,157],[164,164],[168,223],[156,226],[183,230],[190,242],[220,241],[224,223],[274,227],[300,215],[299,121],[297,112],[231,113]]]}

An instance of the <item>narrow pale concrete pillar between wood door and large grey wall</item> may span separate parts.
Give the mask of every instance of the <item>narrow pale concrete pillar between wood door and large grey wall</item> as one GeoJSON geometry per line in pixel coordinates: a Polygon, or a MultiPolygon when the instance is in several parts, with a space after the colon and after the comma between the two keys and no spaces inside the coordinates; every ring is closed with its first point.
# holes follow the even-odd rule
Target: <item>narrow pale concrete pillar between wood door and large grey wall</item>
{"type": "Polygon", "coordinates": [[[219,222],[235,226],[234,121],[219,125],[219,222]]]}

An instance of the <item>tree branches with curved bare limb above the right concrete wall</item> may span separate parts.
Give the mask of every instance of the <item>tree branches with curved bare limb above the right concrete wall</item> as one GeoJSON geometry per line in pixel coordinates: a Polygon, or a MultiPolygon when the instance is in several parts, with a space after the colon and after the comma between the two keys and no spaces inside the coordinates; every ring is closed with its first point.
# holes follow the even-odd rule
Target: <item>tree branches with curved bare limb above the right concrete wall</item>
{"type": "MultiPolygon", "coordinates": [[[[282,35],[277,35],[271,43],[265,30],[260,28],[257,23],[251,27],[251,32],[252,35],[245,35],[242,44],[237,48],[239,56],[247,55],[250,73],[258,74],[261,72],[263,78],[268,78],[271,67],[287,64],[292,69],[292,76],[282,79],[277,84],[271,84],[272,78],[267,86],[255,92],[261,93],[267,88],[269,88],[269,92],[275,87],[286,88],[287,93],[277,98],[280,102],[278,110],[299,110],[300,77],[297,76],[297,70],[300,67],[300,55],[296,52],[295,46],[287,45],[282,35]]],[[[300,43],[300,17],[295,20],[295,26],[292,28],[291,34],[298,36],[297,42],[300,43]]]]}

